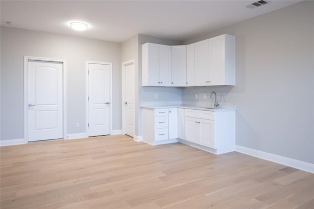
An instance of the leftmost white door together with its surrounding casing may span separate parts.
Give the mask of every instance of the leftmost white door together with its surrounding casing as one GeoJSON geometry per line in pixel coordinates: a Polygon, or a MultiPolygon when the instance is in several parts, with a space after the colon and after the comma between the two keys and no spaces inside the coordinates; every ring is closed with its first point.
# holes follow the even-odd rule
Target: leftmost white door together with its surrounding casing
{"type": "Polygon", "coordinates": [[[24,140],[66,139],[66,60],[24,57],[24,140]]]}

